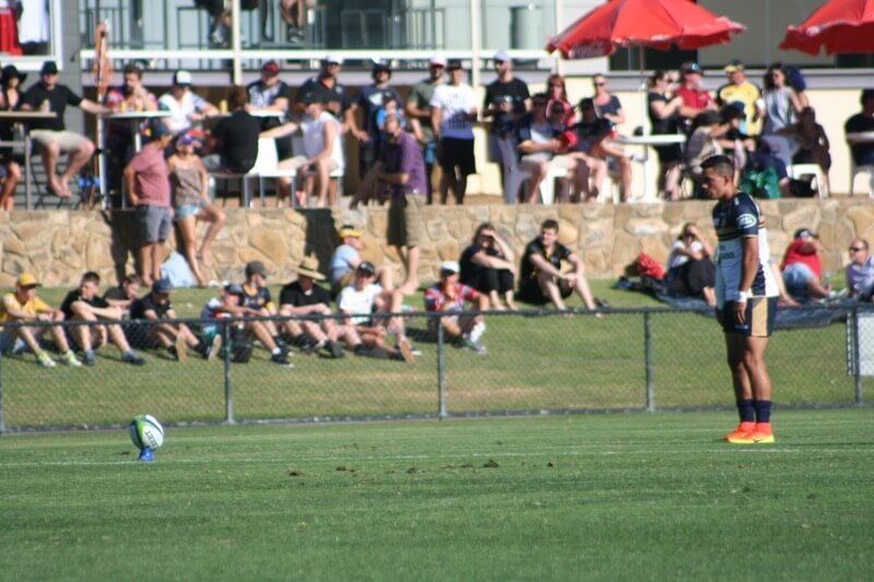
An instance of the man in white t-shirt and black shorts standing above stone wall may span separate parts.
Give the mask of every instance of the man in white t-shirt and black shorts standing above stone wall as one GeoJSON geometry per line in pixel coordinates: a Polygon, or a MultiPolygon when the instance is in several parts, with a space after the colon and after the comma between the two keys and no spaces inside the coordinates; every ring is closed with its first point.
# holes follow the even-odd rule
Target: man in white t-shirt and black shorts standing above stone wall
{"type": "Polygon", "coordinates": [[[437,140],[437,158],[442,169],[440,204],[452,190],[456,204],[464,203],[468,176],[476,173],[473,154],[473,122],[476,120],[476,94],[463,82],[461,61],[451,60],[446,70],[449,82],[439,85],[430,99],[430,124],[437,140]]]}

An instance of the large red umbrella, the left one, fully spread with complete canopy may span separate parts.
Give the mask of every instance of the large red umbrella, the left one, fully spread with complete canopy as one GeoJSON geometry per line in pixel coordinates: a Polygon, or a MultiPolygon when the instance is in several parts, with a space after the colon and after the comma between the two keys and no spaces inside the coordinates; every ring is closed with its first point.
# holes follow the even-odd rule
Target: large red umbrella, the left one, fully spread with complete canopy
{"type": "Polygon", "coordinates": [[[731,33],[744,29],[692,0],[607,0],[552,37],[546,50],[588,59],[612,55],[616,47],[694,49],[728,43],[731,33]]]}

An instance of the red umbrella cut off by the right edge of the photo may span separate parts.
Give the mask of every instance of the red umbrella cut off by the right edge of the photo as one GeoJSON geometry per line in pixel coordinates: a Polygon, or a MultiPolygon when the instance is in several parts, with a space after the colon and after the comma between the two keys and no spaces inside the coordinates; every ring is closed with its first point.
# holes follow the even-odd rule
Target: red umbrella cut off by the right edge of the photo
{"type": "Polygon", "coordinates": [[[787,27],[780,48],[818,55],[874,52],[874,0],[831,0],[801,26],[787,27]]]}

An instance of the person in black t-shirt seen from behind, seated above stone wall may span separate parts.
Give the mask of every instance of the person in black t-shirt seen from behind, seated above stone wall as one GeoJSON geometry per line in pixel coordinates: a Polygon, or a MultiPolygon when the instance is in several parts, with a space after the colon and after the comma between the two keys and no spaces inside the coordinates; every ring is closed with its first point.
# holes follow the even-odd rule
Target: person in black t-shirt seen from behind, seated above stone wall
{"type": "Polygon", "coordinates": [[[206,151],[217,152],[203,158],[208,170],[246,174],[255,166],[261,122],[246,110],[248,103],[246,87],[233,85],[227,90],[231,116],[218,121],[206,140],[206,151]]]}

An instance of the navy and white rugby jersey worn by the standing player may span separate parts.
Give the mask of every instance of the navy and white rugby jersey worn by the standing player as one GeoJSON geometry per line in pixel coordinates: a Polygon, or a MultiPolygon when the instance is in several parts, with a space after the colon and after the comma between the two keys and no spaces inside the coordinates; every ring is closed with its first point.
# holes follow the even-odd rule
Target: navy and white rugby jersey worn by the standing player
{"type": "Polygon", "coordinates": [[[717,307],[734,301],[741,290],[743,276],[743,239],[758,237],[758,268],[753,280],[753,295],[777,297],[777,283],[770,265],[768,236],[761,210],[746,192],[737,192],[729,202],[713,207],[713,227],[717,230],[717,307]]]}

